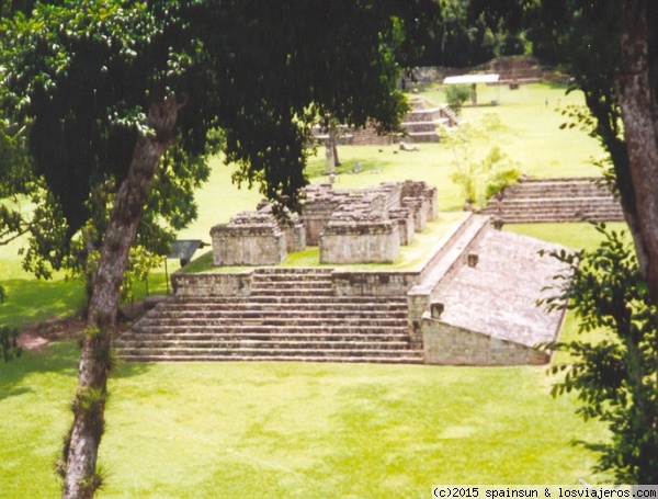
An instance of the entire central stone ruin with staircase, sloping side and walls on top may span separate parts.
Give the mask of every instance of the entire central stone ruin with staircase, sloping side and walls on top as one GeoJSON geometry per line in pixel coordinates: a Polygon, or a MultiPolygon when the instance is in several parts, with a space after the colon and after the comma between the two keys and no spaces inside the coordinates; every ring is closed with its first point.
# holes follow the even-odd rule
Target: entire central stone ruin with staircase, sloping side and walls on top
{"type": "MultiPolygon", "coordinates": [[[[269,203],[212,229],[217,265],[172,275],[173,296],[125,333],[127,361],[314,361],[464,365],[544,364],[564,310],[536,307],[566,269],[557,245],[495,230],[464,214],[411,268],[354,270],[279,263],[306,245],[320,262],[392,262],[438,215],[436,190],[388,182],[313,185],[300,215],[269,203]]],[[[319,263],[319,262],[318,262],[319,263]]]]}

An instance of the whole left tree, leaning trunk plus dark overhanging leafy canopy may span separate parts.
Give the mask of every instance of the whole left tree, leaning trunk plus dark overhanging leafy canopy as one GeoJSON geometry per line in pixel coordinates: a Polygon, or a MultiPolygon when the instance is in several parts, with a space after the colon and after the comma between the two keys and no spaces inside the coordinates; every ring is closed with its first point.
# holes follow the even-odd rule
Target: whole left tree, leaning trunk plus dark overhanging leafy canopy
{"type": "Polygon", "coordinates": [[[9,127],[27,131],[33,178],[66,222],[58,241],[100,248],[59,462],[63,496],[91,497],[135,238],[194,216],[185,196],[219,146],[239,165],[236,180],[294,206],[309,125],[331,114],[398,126],[407,109],[398,60],[411,57],[408,35],[440,11],[431,0],[29,3],[0,5],[14,11],[0,24],[1,109],[9,127]]]}

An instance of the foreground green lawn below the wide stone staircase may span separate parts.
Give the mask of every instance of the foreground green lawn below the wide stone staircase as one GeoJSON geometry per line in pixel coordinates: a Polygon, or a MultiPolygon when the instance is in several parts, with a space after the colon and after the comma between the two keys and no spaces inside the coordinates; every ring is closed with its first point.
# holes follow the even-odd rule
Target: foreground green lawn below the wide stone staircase
{"type": "MultiPolygon", "coordinates": [[[[0,497],[54,497],[77,349],[0,372],[0,497]]],[[[432,484],[572,484],[595,439],[543,367],[125,364],[110,383],[106,498],[426,497],[432,484]]]]}

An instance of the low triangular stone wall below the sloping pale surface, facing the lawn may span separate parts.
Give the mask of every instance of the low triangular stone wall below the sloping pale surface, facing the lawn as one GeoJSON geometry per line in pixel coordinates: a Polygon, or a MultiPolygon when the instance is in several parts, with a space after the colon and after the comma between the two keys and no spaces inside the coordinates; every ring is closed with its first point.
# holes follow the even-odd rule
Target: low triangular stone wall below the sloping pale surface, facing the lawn
{"type": "Polygon", "coordinates": [[[549,353],[512,341],[470,331],[422,317],[422,342],[427,364],[525,365],[546,364],[549,353]]]}

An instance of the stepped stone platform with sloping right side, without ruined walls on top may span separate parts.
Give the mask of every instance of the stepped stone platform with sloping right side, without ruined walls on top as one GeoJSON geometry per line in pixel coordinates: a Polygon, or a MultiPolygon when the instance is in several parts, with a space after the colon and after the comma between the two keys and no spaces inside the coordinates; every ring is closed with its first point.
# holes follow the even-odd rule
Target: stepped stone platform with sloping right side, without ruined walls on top
{"type": "Polygon", "coordinates": [[[118,340],[126,361],[545,363],[563,314],[535,307],[555,247],[464,217],[409,271],[265,266],[172,275],[118,340]]]}

